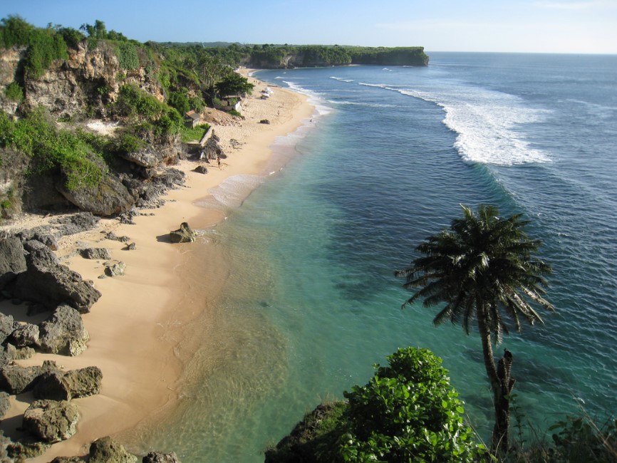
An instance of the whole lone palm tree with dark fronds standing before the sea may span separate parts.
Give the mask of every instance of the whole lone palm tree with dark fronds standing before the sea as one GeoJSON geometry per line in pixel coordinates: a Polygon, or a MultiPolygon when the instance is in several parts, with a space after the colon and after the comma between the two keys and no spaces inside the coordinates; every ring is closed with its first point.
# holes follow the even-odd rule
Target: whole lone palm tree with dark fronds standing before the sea
{"type": "Polygon", "coordinates": [[[419,288],[403,308],[420,299],[425,307],[445,303],[433,320],[435,326],[449,320],[469,334],[472,323],[477,323],[493,392],[492,446],[507,449],[512,354],[505,350],[496,365],[492,342],[499,344],[508,333],[506,314],[520,331],[521,321],[544,323],[533,306],[554,311],[544,299],[544,276],[551,274],[551,267],[532,255],[541,241],[529,239],[523,230],[529,222],[521,214],[502,219],[493,206],[482,204],[477,214],[461,207],[463,218],[423,241],[416,249],[424,256],[395,275],[407,280],[405,288],[419,288]]]}

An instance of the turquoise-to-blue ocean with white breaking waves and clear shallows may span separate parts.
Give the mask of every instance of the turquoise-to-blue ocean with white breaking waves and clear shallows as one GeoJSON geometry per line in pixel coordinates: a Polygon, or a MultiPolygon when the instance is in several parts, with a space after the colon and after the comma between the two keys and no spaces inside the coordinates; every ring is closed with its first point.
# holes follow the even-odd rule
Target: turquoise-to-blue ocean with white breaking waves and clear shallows
{"type": "Polygon", "coordinates": [[[514,355],[519,416],[543,433],[566,414],[616,410],[617,56],[429,55],[426,68],[256,73],[306,93],[316,113],[274,146],[283,169],[212,192],[227,220],[204,239],[229,261],[224,296],[207,309],[180,409],[139,430],[143,447],[261,462],[304,413],[406,346],[443,359],[488,439],[477,333],[432,326],[421,304],[401,310],[410,293],[393,276],[460,204],[524,214],[554,269],[556,312],[496,349],[514,355]]]}

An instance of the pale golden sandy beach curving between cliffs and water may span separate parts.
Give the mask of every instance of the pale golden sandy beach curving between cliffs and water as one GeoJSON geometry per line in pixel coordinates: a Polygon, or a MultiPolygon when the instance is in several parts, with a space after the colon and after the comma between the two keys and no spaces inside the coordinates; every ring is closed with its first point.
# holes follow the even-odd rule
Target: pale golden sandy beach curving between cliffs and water
{"type": "MultiPolygon", "coordinates": [[[[242,71],[247,75],[248,70],[242,71]]],[[[226,264],[222,253],[214,249],[212,259],[201,263],[202,269],[195,276],[195,263],[187,264],[186,256],[192,246],[208,246],[207,236],[200,236],[195,243],[171,244],[167,234],[181,222],[188,222],[197,231],[215,227],[224,219],[222,209],[207,209],[195,203],[229,177],[267,175],[276,137],[308,123],[313,113],[304,95],[271,87],[270,98],[261,99],[266,85],[254,78],[249,81],[256,85],[242,103],[244,120],[230,123],[225,119],[220,122],[226,125],[217,125],[211,114],[214,134],[227,154],[220,167],[216,162],[207,165],[182,161],[174,167],[186,173],[185,187],[168,192],[165,206],[141,210],[135,224],[101,219],[97,229],[61,239],[56,253],[63,264],[93,281],[103,294],[83,316],[90,333],[88,349],[78,357],[37,353],[18,363],[41,365],[43,360],[56,360],[66,370],[96,365],[103,371],[103,387],[100,395],[75,400],[81,414],[77,434],[29,461],[48,462],[56,456],[85,454],[93,440],[120,435],[174,409],[181,393],[178,380],[182,359],[190,355],[190,323],[204,316],[204,300],[214,300],[219,294],[226,278],[226,264]],[[264,119],[270,123],[259,123],[264,119]],[[206,175],[192,172],[199,164],[207,166],[206,175]],[[105,239],[108,231],[129,236],[136,249],[125,251],[124,243],[105,239]],[[103,261],[75,255],[76,249],[88,246],[110,249],[113,259],[126,264],[125,275],[98,279],[103,274],[103,261]]],[[[23,315],[23,307],[11,306],[9,301],[0,303],[0,311],[14,315],[18,321],[38,323],[23,315]]],[[[29,395],[11,399],[11,409],[2,422],[7,435],[14,435],[14,428],[21,425],[29,400],[29,395]]]]}

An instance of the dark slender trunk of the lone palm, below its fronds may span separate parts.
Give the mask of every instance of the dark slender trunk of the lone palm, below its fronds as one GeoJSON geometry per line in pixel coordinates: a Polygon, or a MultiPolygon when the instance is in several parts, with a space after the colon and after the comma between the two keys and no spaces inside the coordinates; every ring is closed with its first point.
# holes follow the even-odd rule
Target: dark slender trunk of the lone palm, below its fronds
{"type": "MultiPolygon", "coordinates": [[[[489,377],[489,383],[493,392],[493,406],[495,410],[495,425],[493,428],[491,447],[494,452],[497,452],[498,449],[503,450],[508,448],[509,400],[507,399],[507,395],[509,394],[509,390],[506,392],[504,387],[502,387],[503,383],[499,378],[497,365],[495,365],[493,347],[491,343],[491,331],[486,322],[487,309],[482,305],[479,305],[478,308],[478,330],[480,338],[482,339],[484,368],[487,370],[487,376],[489,377]]],[[[504,359],[499,360],[499,362],[501,363],[503,360],[504,359]]],[[[512,363],[511,359],[510,363],[512,363]]],[[[502,370],[502,368],[499,370],[502,370]]],[[[509,385],[509,365],[508,368],[503,368],[503,370],[507,370],[508,380],[506,385],[509,385]]]]}

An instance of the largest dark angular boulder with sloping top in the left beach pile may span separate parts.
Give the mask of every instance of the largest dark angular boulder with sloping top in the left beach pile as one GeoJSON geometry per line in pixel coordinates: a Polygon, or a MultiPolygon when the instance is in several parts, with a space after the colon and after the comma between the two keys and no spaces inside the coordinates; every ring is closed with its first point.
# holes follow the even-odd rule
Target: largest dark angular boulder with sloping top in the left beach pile
{"type": "Polygon", "coordinates": [[[81,275],[58,262],[56,255],[38,241],[26,241],[27,269],[14,284],[14,296],[37,301],[48,308],[68,303],[81,313],[88,313],[100,292],[81,275]]]}

